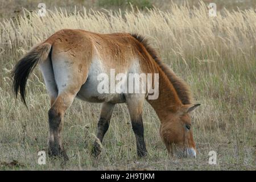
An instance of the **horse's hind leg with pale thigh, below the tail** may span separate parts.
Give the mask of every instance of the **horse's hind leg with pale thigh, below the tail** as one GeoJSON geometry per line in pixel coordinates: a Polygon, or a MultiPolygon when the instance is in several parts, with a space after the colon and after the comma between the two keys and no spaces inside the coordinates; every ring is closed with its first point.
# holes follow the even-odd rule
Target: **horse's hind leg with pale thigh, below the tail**
{"type": "Polygon", "coordinates": [[[58,96],[48,111],[48,154],[50,156],[62,156],[65,160],[68,157],[65,154],[61,138],[63,117],[88,76],[88,68],[82,64],[82,61],[72,60],[64,54],[52,56],[52,67],[58,88],[58,96]]]}

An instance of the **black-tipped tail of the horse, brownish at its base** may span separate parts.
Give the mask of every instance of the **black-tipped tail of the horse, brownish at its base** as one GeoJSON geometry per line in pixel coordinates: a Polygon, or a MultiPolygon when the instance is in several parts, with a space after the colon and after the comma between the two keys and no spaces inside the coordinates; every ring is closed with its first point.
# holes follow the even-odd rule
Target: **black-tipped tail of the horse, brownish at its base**
{"type": "Polygon", "coordinates": [[[15,65],[13,72],[11,73],[13,77],[13,89],[16,97],[18,96],[18,92],[20,92],[20,97],[22,101],[27,106],[25,101],[26,95],[26,83],[27,78],[30,76],[30,73],[35,68],[36,64],[40,61],[44,61],[49,56],[51,51],[51,44],[43,43],[39,46],[32,48],[26,55],[22,57],[15,65]]]}

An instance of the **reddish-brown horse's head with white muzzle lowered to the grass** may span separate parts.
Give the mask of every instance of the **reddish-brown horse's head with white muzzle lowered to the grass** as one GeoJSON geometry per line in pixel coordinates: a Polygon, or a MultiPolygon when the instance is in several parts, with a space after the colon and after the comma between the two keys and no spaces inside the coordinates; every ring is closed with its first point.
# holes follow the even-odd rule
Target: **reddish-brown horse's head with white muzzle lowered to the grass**
{"type": "Polygon", "coordinates": [[[169,154],[175,152],[179,157],[196,156],[189,112],[199,105],[183,105],[176,113],[169,114],[166,121],[160,125],[160,136],[169,154]]]}

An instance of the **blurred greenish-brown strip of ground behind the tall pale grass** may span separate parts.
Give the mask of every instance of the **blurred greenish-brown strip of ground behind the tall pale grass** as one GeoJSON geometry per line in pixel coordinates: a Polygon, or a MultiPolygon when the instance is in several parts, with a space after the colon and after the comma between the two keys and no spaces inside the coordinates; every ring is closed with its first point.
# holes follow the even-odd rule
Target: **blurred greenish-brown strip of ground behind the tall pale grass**
{"type": "MultiPolygon", "coordinates": [[[[186,3],[190,8],[193,6],[199,7],[200,1],[198,0],[9,0],[9,1],[0,1],[0,19],[1,18],[15,18],[18,15],[22,15],[23,8],[26,8],[28,11],[37,10],[38,3],[44,2],[46,3],[47,10],[55,10],[59,8],[65,8],[68,12],[72,12],[74,7],[78,10],[82,9],[82,7],[86,7],[86,9],[93,9],[104,11],[103,9],[130,9],[130,3],[134,6],[137,6],[141,10],[146,10],[146,7],[151,8],[155,6],[160,10],[170,10],[172,6],[172,2],[177,5],[186,3]]],[[[217,5],[217,10],[221,11],[223,9],[228,10],[237,10],[239,7],[241,10],[255,8],[256,1],[255,0],[203,0],[207,5],[210,2],[214,2],[217,5]]]]}

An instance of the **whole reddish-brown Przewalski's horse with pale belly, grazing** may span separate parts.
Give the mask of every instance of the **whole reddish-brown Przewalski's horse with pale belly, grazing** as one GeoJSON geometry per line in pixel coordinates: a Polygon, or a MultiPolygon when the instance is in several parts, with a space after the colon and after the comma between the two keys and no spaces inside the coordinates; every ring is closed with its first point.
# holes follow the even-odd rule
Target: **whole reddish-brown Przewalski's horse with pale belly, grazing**
{"type": "MultiPolygon", "coordinates": [[[[144,99],[160,119],[160,136],[169,153],[196,156],[189,112],[192,104],[188,86],[159,60],[154,49],[139,35],[125,33],[96,34],[84,30],[60,30],[29,51],[15,65],[14,92],[25,101],[26,81],[36,64],[40,65],[49,93],[48,154],[68,159],[63,149],[61,130],[65,111],[75,97],[89,102],[102,102],[97,138],[102,142],[109,128],[115,104],[126,103],[135,134],[137,154],[146,156],[142,110],[144,99]],[[97,76],[115,69],[117,73],[158,73],[159,97],[149,100],[148,94],[98,93],[97,76]],[[173,147],[176,146],[176,147],[173,147]]],[[[100,154],[94,143],[93,154],[100,154]]]]}

